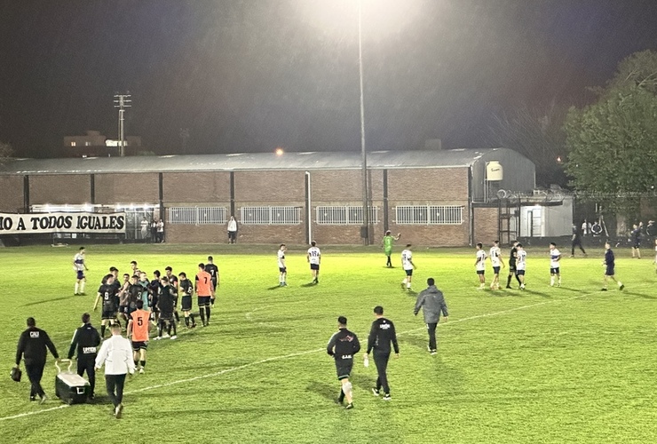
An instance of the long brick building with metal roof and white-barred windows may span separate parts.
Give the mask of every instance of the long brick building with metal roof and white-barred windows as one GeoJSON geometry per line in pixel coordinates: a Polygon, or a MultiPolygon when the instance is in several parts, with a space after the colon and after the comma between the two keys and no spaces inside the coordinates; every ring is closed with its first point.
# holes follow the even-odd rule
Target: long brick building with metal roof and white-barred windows
{"type": "MultiPolygon", "coordinates": [[[[129,239],[154,214],[167,242],[225,242],[233,214],[238,242],[360,244],[360,168],[358,153],[14,160],[0,166],[0,211],[125,210],[129,239]]],[[[531,193],[534,163],[506,148],[368,153],[370,242],[387,229],[422,245],[490,241],[498,189],[531,193]]]]}

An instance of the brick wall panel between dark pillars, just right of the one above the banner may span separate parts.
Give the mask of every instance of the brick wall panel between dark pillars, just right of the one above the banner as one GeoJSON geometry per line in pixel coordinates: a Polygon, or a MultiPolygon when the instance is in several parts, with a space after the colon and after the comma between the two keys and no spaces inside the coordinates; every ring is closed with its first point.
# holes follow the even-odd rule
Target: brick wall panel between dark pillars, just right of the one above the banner
{"type": "Polygon", "coordinates": [[[96,203],[104,205],[157,203],[160,199],[157,173],[96,174],[95,184],[96,203]]]}

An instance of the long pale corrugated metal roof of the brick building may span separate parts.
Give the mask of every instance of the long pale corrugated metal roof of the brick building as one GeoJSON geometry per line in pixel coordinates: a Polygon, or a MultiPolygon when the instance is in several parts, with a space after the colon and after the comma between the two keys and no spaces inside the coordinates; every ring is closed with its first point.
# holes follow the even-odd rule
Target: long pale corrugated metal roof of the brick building
{"type": "MultiPolygon", "coordinates": [[[[507,148],[435,151],[375,151],[368,153],[368,169],[446,168],[470,166],[507,148]]],[[[518,154],[516,154],[518,155],[518,154]]],[[[91,174],[118,172],[178,172],[237,170],[357,170],[359,153],[250,153],[234,155],[159,155],[66,159],[15,159],[0,165],[0,174],[91,174]]]]}

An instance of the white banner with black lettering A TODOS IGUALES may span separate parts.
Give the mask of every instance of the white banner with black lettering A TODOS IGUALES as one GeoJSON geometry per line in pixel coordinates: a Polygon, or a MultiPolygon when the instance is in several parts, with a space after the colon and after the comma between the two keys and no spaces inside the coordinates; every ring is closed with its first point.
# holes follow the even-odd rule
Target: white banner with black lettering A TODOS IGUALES
{"type": "Polygon", "coordinates": [[[0,235],[47,233],[125,233],[125,213],[0,213],[0,235]]]}

